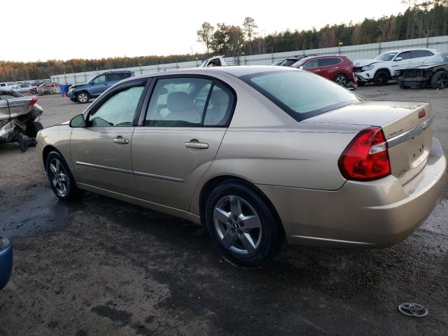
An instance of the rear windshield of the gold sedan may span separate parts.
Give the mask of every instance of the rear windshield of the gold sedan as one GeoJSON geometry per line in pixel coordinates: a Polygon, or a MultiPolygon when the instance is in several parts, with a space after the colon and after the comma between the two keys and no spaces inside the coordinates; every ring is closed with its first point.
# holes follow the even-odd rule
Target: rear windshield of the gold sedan
{"type": "Polygon", "coordinates": [[[302,70],[267,71],[239,78],[297,121],[362,100],[332,81],[302,70]]]}

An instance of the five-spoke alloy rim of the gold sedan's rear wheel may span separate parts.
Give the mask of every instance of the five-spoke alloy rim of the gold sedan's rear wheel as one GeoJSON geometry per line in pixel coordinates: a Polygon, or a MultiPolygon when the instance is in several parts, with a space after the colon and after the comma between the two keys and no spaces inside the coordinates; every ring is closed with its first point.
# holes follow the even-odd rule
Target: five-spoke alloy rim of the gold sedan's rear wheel
{"type": "Polygon", "coordinates": [[[262,226],[257,212],[241,197],[228,195],[216,203],[214,228],[221,244],[239,255],[258,251],[262,226]]]}

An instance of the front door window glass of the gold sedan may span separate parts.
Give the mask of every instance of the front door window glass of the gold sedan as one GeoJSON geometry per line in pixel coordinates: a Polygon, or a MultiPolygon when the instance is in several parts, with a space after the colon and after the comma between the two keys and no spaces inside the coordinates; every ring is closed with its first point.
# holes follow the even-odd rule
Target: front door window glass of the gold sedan
{"type": "Polygon", "coordinates": [[[99,109],[90,113],[89,127],[132,126],[143,90],[144,86],[128,87],[109,97],[99,109]]]}

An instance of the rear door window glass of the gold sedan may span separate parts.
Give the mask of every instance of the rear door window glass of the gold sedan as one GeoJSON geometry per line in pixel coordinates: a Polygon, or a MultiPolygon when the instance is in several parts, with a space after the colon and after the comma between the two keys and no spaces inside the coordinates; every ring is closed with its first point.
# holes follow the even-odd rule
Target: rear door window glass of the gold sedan
{"type": "Polygon", "coordinates": [[[162,78],[154,87],[146,113],[145,125],[159,127],[225,126],[228,123],[232,103],[232,94],[212,80],[162,78]]]}

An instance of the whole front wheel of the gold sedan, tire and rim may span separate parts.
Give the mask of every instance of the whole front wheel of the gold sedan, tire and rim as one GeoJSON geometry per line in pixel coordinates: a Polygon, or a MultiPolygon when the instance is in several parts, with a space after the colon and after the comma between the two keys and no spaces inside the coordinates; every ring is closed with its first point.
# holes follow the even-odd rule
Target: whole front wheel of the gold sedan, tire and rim
{"type": "Polygon", "coordinates": [[[57,152],[49,153],[45,160],[45,170],[51,189],[59,200],[69,201],[79,196],[75,179],[62,155],[57,152]]]}

